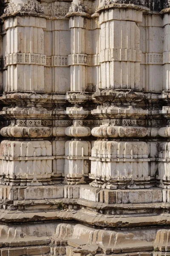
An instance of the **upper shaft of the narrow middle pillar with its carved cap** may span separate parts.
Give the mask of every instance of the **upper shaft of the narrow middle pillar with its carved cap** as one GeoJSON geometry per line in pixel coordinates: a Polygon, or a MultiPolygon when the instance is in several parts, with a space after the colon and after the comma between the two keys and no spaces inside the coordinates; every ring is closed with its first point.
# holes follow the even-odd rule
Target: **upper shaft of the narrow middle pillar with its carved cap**
{"type": "MultiPolygon", "coordinates": [[[[71,29],[71,55],[68,56],[70,65],[71,91],[85,91],[87,88],[87,66],[91,64],[88,44],[85,45],[88,33],[85,33],[86,19],[89,17],[88,6],[73,1],[66,17],[69,17],[69,28],[71,29]]],[[[91,53],[91,52],[90,52],[91,53]]]]}

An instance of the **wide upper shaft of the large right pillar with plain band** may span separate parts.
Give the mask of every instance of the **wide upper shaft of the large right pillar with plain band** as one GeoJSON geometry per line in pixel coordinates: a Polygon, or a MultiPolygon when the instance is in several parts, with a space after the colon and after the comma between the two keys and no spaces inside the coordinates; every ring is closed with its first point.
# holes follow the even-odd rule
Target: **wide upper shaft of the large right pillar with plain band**
{"type": "Polygon", "coordinates": [[[142,22],[142,10],[101,8],[101,73],[102,88],[135,89],[140,88],[139,49],[140,31],[137,25],[142,22]]]}

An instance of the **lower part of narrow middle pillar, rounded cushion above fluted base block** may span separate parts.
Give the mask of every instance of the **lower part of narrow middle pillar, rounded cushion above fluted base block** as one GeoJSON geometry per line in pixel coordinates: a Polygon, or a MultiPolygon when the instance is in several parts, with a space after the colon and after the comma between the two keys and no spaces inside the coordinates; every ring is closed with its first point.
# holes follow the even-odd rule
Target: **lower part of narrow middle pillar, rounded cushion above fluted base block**
{"type": "Polygon", "coordinates": [[[85,183],[84,178],[88,177],[89,172],[91,143],[82,140],[82,137],[90,136],[91,129],[82,124],[88,111],[82,107],[71,107],[65,113],[73,118],[73,125],[65,129],[65,134],[74,139],[65,143],[64,177],[68,184],[85,183]]]}

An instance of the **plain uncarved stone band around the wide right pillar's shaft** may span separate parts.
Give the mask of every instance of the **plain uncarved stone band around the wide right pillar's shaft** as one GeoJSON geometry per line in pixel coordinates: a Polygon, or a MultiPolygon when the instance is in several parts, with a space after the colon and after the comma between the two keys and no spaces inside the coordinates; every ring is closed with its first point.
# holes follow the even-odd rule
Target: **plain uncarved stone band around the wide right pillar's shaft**
{"type": "Polygon", "coordinates": [[[106,61],[132,61],[141,62],[142,51],[134,49],[105,49],[99,54],[100,62],[106,61]]]}

